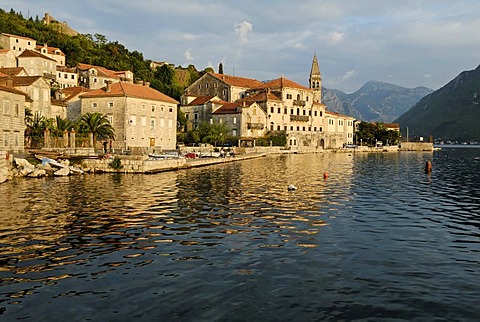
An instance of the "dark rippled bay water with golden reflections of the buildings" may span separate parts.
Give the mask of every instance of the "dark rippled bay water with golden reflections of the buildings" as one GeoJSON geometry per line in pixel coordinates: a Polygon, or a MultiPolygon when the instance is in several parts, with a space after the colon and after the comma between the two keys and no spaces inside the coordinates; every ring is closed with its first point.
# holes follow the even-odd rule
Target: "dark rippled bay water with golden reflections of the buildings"
{"type": "Polygon", "coordinates": [[[479,157],[16,179],[0,185],[0,320],[478,321],[479,157]]]}

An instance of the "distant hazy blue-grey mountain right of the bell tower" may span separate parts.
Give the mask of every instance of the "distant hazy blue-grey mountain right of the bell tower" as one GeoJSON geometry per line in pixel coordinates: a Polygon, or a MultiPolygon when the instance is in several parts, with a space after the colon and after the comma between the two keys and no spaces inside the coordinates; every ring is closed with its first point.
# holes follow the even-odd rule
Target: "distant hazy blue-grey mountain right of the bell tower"
{"type": "Polygon", "coordinates": [[[362,121],[392,122],[422,97],[432,93],[426,87],[405,88],[369,81],[354,93],[323,88],[322,102],[328,110],[362,121]]]}

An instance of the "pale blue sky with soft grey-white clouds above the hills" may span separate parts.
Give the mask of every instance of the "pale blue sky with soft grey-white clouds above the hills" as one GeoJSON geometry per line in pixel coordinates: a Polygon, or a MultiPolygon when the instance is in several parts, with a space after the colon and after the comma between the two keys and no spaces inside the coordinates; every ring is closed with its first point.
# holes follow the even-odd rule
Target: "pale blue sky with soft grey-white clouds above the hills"
{"type": "Polygon", "coordinates": [[[260,81],[308,86],[316,54],[323,86],[352,93],[369,80],[436,90],[480,64],[478,0],[0,0],[45,12],[145,59],[260,81]]]}

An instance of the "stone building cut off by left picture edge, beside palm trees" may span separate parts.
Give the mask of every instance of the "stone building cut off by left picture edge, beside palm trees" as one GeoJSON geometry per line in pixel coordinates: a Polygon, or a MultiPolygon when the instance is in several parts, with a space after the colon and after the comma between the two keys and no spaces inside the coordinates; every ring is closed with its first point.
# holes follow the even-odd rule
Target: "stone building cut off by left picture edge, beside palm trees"
{"type": "Polygon", "coordinates": [[[23,151],[25,135],[25,100],[27,95],[0,81],[0,151],[23,151]]]}

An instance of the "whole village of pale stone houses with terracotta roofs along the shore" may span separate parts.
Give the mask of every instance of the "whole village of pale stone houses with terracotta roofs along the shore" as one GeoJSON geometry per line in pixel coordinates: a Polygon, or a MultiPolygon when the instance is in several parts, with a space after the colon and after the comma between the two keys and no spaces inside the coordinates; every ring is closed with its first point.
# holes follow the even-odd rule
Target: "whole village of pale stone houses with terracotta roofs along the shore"
{"type": "MultiPolygon", "coordinates": [[[[0,47],[0,149],[12,153],[24,151],[28,141],[24,136],[26,110],[47,119],[72,121],[85,113],[106,115],[115,131],[109,146],[117,153],[176,149],[177,108],[185,113],[187,129],[195,129],[202,121],[222,123],[240,146],[255,145],[267,132],[285,133],[292,149],[337,149],[353,144],[354,119],[326,111],[322,104],[316,55],[308,88],[284,77],[261,82],[207,73],[177,102],[148,82],[134,82],[128,70],[84,63],[66,67],[60,48],[37,44],[35,39],[3,33],[0,47]]],[[[64,139],[63,147],[73,148],[71,141],[64,139]]]]}

